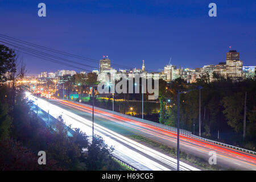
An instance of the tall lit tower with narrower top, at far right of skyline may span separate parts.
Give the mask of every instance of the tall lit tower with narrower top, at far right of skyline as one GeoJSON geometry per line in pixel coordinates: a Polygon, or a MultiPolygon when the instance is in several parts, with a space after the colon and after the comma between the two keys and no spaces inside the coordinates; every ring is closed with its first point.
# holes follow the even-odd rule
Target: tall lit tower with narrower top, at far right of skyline
{"type": "Polygon", "coordinates": [[[239,52],[230,50],[226,53],[226,76],[234,81],[242,78],[243,61],[239,59],[239,52]]]}

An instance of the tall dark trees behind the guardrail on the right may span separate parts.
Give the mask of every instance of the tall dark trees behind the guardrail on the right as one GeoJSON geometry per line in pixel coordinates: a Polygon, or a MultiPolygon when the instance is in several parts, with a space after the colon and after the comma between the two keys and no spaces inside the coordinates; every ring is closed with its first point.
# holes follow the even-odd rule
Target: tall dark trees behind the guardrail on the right
{"type": "MultiPolygon", "coordinates": [[[[176,127],[177,91],[195,89],[200,85],[203,87],[201,89],[201,131],[203,131],[203,136],[216,139],[218,131],[220,133],[233,132],[236,135],[233,142],[255,150],[256,80],[246,79],[234,82],[230,78],[224,78],[217,74],[213,74],[213,78],[214,81],[210,82],[209,76],[203,75],[192,84],[181,78],[170,83],[160,81],[159,122],[176,127]],[[166,104],[168,105],[167,109],[166,104]],[[246,116],[246,138],[242,140],[244,114],[246,116]]],[[[199,90],[180,94],[180,126],[181,129],[192,132],[195,126],[195,132],[198,134],[199,90]]],[[[228,135],[232,140],[232,134],[228,135]]]]}

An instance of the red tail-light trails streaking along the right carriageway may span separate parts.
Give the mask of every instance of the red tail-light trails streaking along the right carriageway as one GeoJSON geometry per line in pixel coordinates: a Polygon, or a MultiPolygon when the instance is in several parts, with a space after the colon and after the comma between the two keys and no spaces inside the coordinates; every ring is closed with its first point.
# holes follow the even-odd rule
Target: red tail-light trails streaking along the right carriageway
{"type": "MultiPolygon", "coordinates": [[[[64,105],[75,107],[75,108],[80,109],[80,110],[81,109],[86,109],[87,112],[91,112],[91,110],[92,110],[91,107],[84,106],[84,105],[81,105],[81,104],[76,104],[76,103],[73,103],[73,102],[62,101],[62,100],[59,100],[59,101],[64,105]]],[[[144,123],[134,121],[134,120],[129,119],[129,118],[121,117],[119,115],[114,115],[112,113],[108,113],[106,111],[101,111],[101,110],[98,110],[98,109],[94,109],[94,113],[95,113],[95,115],[100,114],[101,118],[108,119],[109,121],[117,122],[117,123],[120,123],[122,125],[126,125],[126,126],[129,126],[131,128],[134,128],[136,130],[143,131],[144,133],[148,133],[148,134],[151,134],[151,135],[155,135],[159,138],[163,138],[163,139],[166,139],[166,140],[170,140],[172,142],[176,142],[177,134],[172,132],[172,131],[159,129],[158,127],[155,127],[155,126],[146,125],[144,123]],[[115,120],[114,118],[121,119],[123,122],[115,120]],[[134,123],[135,125],[133,125],[131,123],[134,123]],[[141,127],[138,127],[138,126],[141,126],[141,127]],[[148,130],[148,129],[150,129],[150,130],[148,130]],[[156,133],[155,131],[158,131],[158,132],[160,131],[161,134],[156,133]]],[[[224,147],[224,146],[218,146],[216,144],[208,143],[208,142],[205,142],[203,140],[193,139],[191,137],[186,137],[184,135],[180,135],[180,139],[182,139],[184,141],[184,142],[180,141],[180,143],[183,144],[184,146],[197,148],[198,150],[207,151],[207,152],[214,150],[214,151],[217,152],[218,155],[220,155],[224,158],[231,159],[231,158],[229,158],[229,156],[230,156],[230,157],[232,157],[233,160],[240,161],[240,162],[243,162],[245,164],[249,164],[250,166],[256,167],[256,165],[255,165],[256,164],[256,158],[255,158],[255,156],[253,156],[251,154],[247,154],[247,153],[242,152],[242,151],[236,151],[236,150],[233,150],[232,148],[228,148],[228,147],[224,147]],[[248,163],[248,162],[250,162],[250,163],[248,163]],[[251,164],[251,163],[253,163],[253,164],[251,164]]]]}

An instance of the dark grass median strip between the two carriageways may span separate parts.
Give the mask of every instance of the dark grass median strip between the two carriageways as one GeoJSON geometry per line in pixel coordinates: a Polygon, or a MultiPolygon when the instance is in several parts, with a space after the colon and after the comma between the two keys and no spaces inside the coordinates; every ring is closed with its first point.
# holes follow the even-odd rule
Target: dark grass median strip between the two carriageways
{"type": "MultiPolygon", "coordinates": [[[[129,135],[128,137],[139,143],[144,144],[147,147],[163,152],[164,154],[167,154],[173,158],[177,157],[177,150],[174,147],[170,147],[170,146],[155,142],[154,140],[142,137],[141,135],[129,135]]],[[[205,171],[234,170],[232,168],[224,168],[217,164],[210,165],[207,160],[197,156],[193,156],[191,154],[187,154],[183,151],[180,151],[180,161],[191,164],[191,166],[194,166],[196,168],[199,168],[205,171]]]]}

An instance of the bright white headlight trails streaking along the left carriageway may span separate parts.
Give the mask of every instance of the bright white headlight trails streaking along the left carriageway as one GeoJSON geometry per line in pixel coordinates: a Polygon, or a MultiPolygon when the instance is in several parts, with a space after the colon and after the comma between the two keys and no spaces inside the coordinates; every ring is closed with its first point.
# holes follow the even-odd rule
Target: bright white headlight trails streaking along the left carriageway
{"type": "MultiPolygon", "coordinates": [[[[26,95],[30,100],[36,102],[35,98],[31,96],[30,93],[26,93],[26,95]]],[[[57,116],[62,115],[66,125],[72,125],[72,127],[80,128],[82,131],[84,131],[87,134],[92,133],[92,127],[91,127],[92,122],[89,121],[88,119],[82,118],[79,115],[71,113],[53,104],[49,104],[48,106],[48,102],[40,98],[38,98],[37,102],[38,102],[38,106],[45,111],[48,110],[48,107],[49,107],[49,114],[51,114],[52,117],[56,118],[57,116]]],[[[151,156],[155,160],[162,162],[164,164],[167,164],[172,168],[176,168],[176,162],[177,162],[176,159],[171,158],[170,156],[164,155],[158,151],[152,150],[151,148],[148,148],[146,146],[143,146],[142,144],[135,142],[134,140],[123,137],[122,135],[117,134],[109,129],[106,129],[105,127],[97,125],[97,123],[94,123],[94,126],[96,129],[95,133],[97,135],[100,135],[102,138],[104,138],[106,144],[108,144],[109,146],[114,146],[116,151],[121,152],[121,154],[128,156],[129,158],[135,160],[136,162],[142,164],[143,166],[146,166],[147,168],[154,171],[170,170],[169,168],[164,167],[163,165],[155,162],[154,160],[148,159],[146,156],[132,150],[131,148],[134,148],[135,150],[138,150],[143,154],[151,156]],[[119,142],[117,142],[117,140],[119,142]],[[121,143],[125,143],[130,148],[124,146],[121,143]]],[[[183,162],[180,162],[180,169],[193,170],[193,171],[199,170],[183,162]]]]}

